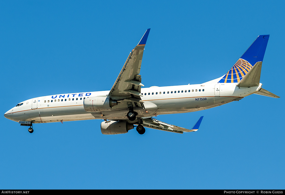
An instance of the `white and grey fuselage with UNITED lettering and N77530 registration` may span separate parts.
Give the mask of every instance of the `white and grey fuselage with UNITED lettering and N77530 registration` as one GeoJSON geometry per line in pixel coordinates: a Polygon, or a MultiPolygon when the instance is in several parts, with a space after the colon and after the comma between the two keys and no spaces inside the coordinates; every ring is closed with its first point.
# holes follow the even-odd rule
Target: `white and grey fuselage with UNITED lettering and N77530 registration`
{"type": "MultiPolygon", "coordinates": [[[[145,109],[134,108],[138,117],[162,114],[187,113],[208,109],[239,100],[258,92],[259,86],[239,88],[237,83],[206,82],[203,84],[142,88],[141,99],[145,109]]],[[[90,119],[127,119],[127,108],[120,104],[102,112],[87,112],[83,101],[86,97],[105,96],[109,91],[84,92],[42,96],[23,101],[5,113],[13,121],[50,123],[90,119]],[[20,104],[21,104],[20,103],[20,104]]]]}

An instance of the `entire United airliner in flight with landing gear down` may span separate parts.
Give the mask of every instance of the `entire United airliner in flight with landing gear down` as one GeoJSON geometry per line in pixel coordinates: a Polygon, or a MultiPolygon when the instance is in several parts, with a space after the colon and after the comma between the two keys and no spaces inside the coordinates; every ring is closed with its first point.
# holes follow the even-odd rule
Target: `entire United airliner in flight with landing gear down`
{"type": "Polygon", "coordinates": [[[150,28],[129,56],[109,91],[77,92],[34,97],[18,103],[4,116],[34,130],[35,123],[103,119],[102,134],[123,134],[145,127],[175,133],[197,131],[203,116],[186,129],[154,116],[188,113],[239,101],[251,94],[279,98],[262,88],[261,66],[269,35],[259,35],[223,76],[202,84],[142,88],[141,63],[150,28]]]}

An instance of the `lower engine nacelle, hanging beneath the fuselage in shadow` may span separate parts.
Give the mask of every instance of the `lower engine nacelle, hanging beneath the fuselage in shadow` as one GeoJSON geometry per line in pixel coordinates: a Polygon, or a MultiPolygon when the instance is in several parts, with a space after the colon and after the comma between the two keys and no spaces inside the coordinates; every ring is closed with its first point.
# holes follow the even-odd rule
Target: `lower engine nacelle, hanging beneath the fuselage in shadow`
{"type": "Polygon", "coordinates": [[[133,129],[134,125],[126,121],[104,121],[101,123],[101,132],[104,135],[123,134],[133,129]]]}

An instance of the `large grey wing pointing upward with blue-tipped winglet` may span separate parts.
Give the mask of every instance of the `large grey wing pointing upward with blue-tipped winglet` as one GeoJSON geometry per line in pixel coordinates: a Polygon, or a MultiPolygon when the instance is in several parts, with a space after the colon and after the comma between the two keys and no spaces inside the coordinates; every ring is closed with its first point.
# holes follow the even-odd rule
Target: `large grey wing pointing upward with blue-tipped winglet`
{"type": "MultiPolygon", "coordinates": [[[[141,100],[141,62],[143,58],[144,46],[149,34],[150,28],[146,30],[143,37],[137,44],[137,46],[131,51],[127,58],[117,80],[115,81],[111,91],[109,92],[112,99],[125,99],[135,102],[138,106],[138,102],[143,103],[141,100]]],[[[139,104],[139,107],[143,107],[139,104]]]]}

